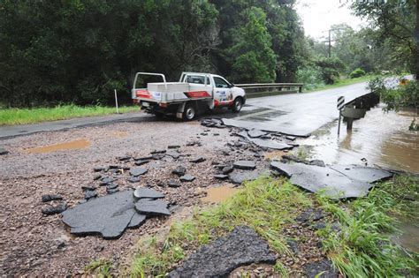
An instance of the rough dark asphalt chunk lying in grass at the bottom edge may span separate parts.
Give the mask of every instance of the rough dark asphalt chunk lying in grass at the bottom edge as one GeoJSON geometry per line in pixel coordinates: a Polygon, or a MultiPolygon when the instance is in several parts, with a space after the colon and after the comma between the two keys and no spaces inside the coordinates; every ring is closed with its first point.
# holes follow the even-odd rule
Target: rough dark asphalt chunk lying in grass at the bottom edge
{"type": "Polygon", "coordinates": [[[227,237],[200,247],[169,277],[227,277],[232,270],[250,264],[275,265],[276,256],[268,243],[255,230],[236,227],[227,237]]]}

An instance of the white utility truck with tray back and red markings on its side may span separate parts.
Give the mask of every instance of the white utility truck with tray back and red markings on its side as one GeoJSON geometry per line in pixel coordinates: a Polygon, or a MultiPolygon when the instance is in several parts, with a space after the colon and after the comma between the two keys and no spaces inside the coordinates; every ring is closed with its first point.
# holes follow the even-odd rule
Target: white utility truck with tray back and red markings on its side
{"type": "Polygon", "coordinates": [[[179,82],[166,82],[164,74],[137,72],[133,80],[133,102],[156,116],[176,115],[192,120],[197,113],[208,109],[228,107],[239,112],[246,102],[243,89],[223,77],[210,73],[182,72],[179,82]],[[159,76],[163,82],[148,83],[147,88],[137,88],[139,76],[159,76]]]}

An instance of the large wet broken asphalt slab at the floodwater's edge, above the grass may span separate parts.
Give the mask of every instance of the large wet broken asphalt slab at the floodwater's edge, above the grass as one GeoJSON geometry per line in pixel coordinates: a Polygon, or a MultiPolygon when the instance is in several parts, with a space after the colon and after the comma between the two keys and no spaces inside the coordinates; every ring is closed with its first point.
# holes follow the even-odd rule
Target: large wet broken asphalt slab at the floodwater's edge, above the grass
{"type": "MultiPolygon", "coordinates": [[[[340,166],[319,167],[303,163],[287,164],[283,162],[270,162],[270,167],[279,174],[289,177],[291,183],[298,185],[309,192],[323,191],[327,196],[334,199],[357,198],[366,196],[373,182],[392,174],[384,175],[382,169],[356,167],[362,172],[361,179],[355,174],[355,169],[350,176],[336,170],[340,166]],[[333,169],[336,168],[336,169],[333,169]],[[381,177],[377,179],[377,177],[381,177]]],[[[344,169],[347,166],[343,166],[344,169]]]]}

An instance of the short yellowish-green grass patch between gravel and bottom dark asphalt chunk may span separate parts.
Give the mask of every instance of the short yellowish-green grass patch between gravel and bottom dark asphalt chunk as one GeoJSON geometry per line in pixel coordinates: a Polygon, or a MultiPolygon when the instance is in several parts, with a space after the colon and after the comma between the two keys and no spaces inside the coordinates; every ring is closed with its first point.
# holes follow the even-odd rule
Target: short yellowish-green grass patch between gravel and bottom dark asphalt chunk
{"type": "MultiPolygon", "coordinates": [[[[188,251],[224,236],[238,225],[255,229],[275,252],[289,252],[282,229],[286,223],[293,222],[301,209],[310,206],[309,196],[286,179],[259,177],[224,203],[195,211],[192,220],[175,222],[164,239],[142,240],[130,275],[164,276],[173,264],[187,256],[188,251]]],[[[287,274],[280,263],[274,269],[277,274],[287,274]]]]}

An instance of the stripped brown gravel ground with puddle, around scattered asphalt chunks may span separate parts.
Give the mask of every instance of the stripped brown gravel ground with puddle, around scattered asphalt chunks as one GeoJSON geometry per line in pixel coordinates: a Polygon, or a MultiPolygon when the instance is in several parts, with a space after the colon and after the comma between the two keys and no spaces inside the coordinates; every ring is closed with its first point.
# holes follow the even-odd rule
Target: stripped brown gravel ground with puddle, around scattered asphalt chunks
{"type": "MultiPolygon", "coordinates": [[[[42,132],[3,140],[3,147],[10,154],[0,156],[0,276],[82,274],[89,262],[99,258],[111,259],[117,265],[124,263],[131,258],[141,236],[165,229],[169,218],[150,218],[141,228],[128,229],[117,240],[72,237],[61,222],[60,214],[42,214],[42,208],[50,206],[42,203],[42,195],[60,194],[68,206],[73,207],[84,198],[81,186],[95,185],[99,195],[106,194],[105,189],[98,186],[99,181],[94,181],[97,173],[93,168],[133,167],[133,160],[119,162],[118,157],[144,157],[153,150],[179,145],[182,156],[178,160],[165,156],[143,165],[149,172],[137,184],[127,182],[127,171],[119,173],[119,188],[150,186],[164,192],[171,207],[204,206],[202,188],[228,183],[214,179],[213,176],[219,173],[214,163],[251,159],[256,162],[257,169],[267,169],[268,162],[259,158],[260,154],[252,147],[232,149],[226,146],[227,142],[238,139],[228,128],[209,130],[196,121],[157,121],[147,117],[141,122],[42,132]],[[187,146],[192,141],[199,141],[202,146],[187,146]],[[69,149],[49,147],[66,142],[72,143],[61,147],[69,149]],[[230,155],[222,154],[222,151],[230,155]],[[202,156],[206,161],[189,162],[196,156],[202,156]],[[176,179],[171,170],[178,165],[185,166],[187,173],[196,179],[179,188],[168,187],[167,182],[176,179]]],[[[102,174],[113,175],[110,172],[102,174]]],[[[312,241],[309,240],[308,246],[313,245],[312,241]]],[[[305,254],[304,251],[301,253],[305,254]]],[[[315,253],[315,257],[323,256],[318,250],[315,253]]],[[[296,263],[294,267],[299,265],[296,263]]]]}

